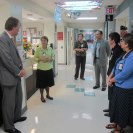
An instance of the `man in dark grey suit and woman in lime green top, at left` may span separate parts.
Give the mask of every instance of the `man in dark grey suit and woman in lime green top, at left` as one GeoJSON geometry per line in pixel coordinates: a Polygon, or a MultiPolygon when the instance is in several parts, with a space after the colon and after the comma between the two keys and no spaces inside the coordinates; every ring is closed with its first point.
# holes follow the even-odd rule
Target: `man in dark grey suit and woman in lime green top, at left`
{"type": "MultiPolygon", "coordinates": [[[[21,58],[14,43],[21,24],[15,17],[10,17],[5,23],[5,31],[0,35],[0,126],[8,133],[21,133],[14,123],[25,121],[21,117],[22,88],[21,77],[26,75],[21,58]]],[[[53,60],[54,52],[48,47],[48,37],[41,37],[41,46],[35,52],[37,64],[36,87],[40,89],[41,101],[46,98],[53,100],[49,94],[49,87],[54,85],[53,60]]]]}

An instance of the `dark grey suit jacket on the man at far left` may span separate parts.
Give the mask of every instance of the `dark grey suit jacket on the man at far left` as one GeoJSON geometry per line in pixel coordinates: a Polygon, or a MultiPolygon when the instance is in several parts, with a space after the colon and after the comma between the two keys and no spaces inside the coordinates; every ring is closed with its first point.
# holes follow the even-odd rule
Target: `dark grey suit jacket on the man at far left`
{"type": "Polygon", "coordinates": [[[0,35],[0,84],[15,86],[22,69],[22,62],[17,48],[6,32],[0,35]]]}

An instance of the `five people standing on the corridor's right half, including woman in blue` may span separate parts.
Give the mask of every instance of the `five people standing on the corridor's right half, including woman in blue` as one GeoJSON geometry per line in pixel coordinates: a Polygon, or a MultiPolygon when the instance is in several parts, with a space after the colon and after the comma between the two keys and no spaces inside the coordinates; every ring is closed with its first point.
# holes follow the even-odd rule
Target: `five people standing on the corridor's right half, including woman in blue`
{"type": "MultiPolygon", "coordinates": [[[[102,31],[95,33],[93,64],[95,70],[95,86],[100,87],[100,74],[102,77],[102,91],[108,87],[109,108],[103,110],[109,112],[105,116],[110,117],[107,129],[114,129],[111,133],[124,133],[127,125],[133,126],[133,35],[127,33],[127,28],[120,27],[120,34],[112,32],[109,40],[102,38],[102,31]],[[109,64],[108,64],[109,58],[109,64]],[[108,69],[107,69],[108,66],[108,69]],[[108,76],[108,78],[107,78],[108,76]]],[[[80,78],[83,78],[86,62],[86,42],[83,35],[78,35],[78,41],[74,45],[76,51],[76,69],[74,78],[77,80],[81,66],[80,78]],[[81,39],[81,40],[80,40],[81,39]]],[[[84,79],[83,79],[84,80],[84,79]]]]}

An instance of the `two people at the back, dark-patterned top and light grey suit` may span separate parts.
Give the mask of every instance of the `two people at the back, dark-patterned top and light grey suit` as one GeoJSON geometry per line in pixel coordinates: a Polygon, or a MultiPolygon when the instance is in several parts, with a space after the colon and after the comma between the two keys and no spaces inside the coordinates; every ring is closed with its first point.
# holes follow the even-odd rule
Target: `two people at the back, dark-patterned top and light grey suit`
{"type": "MultiPolygon", "coordinates": [[[[107,76],[107,64],[108,57],[110,55],[110,46],[106,40],[103,39],[103,32],[98,30],[95,34],[96,41],[94,42],[94,52],[93,52],[93,64],[95,68],[95,78],[96,84],[93,89],[100,87],[100,74],[102,76],[102,91],[106,90],[106,76],[107,76]]],[[[74,79],[77,80],[79,76],[79,69],[81,67],[80,79],[85,80],[85,64],[86,64],[86,51],[88,50],[88,45],[85,40],[83,40],[83,34],[78,34],[78,41],[74,44],[75,50],[75,60],[76,68],[74,79]]]]}

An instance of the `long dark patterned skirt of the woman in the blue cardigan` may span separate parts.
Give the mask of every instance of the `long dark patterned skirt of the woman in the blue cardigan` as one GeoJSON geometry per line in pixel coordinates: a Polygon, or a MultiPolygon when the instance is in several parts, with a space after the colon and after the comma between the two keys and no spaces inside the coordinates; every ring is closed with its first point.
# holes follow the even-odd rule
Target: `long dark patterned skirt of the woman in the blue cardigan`
{"type": "Polygon", "coordinates": [[[121,128],[133,126],[133,89],[114,86],[110,103],[110,122],[121,128]]]}

